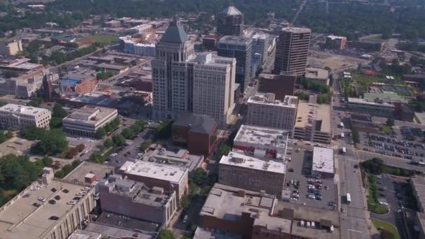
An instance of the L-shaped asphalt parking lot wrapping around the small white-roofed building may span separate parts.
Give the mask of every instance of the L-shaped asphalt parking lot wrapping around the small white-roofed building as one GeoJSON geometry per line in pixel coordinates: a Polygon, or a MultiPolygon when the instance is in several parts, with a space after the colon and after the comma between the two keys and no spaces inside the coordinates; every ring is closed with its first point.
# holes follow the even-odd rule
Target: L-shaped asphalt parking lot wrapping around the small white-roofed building
{"type": "Polygon", "coordinates": [[[334,209],[336,184],[334,184],[332,178],[310,178],[312,166],[312,153],[310,152],[305,150],[296,152],[295,149],[292,149],[287,154],[288,157],[291,157],[291,161],[288,162],[285,188],[293,192],[298,191],[296,193],[298,197],[294,194],[291,195],[291,203],[334,209]]]}

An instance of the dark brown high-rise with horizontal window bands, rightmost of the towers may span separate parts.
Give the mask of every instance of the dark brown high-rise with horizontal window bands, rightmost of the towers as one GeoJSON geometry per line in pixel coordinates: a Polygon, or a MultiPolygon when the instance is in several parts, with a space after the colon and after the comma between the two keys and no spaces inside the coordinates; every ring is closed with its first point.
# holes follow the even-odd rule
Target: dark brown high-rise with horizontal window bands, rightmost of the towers
{"type": "Polygon", "coordinates": [[[285,27],[280,31],[276,44],[274,74],[305,75],[311,30],[285,27]]]}

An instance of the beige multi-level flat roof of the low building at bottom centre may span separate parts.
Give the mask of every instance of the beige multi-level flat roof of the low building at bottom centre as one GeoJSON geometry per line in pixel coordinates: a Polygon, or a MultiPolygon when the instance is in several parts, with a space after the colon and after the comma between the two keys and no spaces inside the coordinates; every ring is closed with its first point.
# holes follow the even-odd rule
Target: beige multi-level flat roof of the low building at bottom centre
{"type": "Polygon", "coordinates": [[[290,219],[270,215],[277,200],[270,196],[260,196],[245,191],[245,196],[238,196],[238,190],[233,187],[212,187],[200,215],[208,215],[226,221],[238,221],[242,212],[247,212],[254,218],[254,225],[265,226],[267,229],[291,233],[290,219]],[[259,212],[259,213],[257,213],[259,212]]]}

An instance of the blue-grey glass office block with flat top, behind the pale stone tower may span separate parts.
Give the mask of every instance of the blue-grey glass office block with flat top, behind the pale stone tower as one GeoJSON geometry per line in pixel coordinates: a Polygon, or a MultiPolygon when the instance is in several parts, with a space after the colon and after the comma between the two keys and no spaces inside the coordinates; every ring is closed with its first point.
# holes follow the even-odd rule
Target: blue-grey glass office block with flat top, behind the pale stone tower
{"type": "Polygon", "coordinates": [[[220,57],[236,58],[236,82],[245,92],[253,77],[252,39],[243,36],[223,36],[217,44],[220,57]]]}

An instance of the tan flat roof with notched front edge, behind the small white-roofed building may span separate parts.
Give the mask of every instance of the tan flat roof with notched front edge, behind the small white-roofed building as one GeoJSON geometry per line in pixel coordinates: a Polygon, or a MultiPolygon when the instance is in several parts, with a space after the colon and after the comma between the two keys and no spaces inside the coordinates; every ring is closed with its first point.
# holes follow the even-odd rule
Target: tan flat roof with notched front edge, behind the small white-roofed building
{"type": "Polygon", "coordinates": [[[331,106],[299,101],[295,127],[311,126],[313,119],[322,119],[322,127],[319,131],[331,133],[331,106]]]}

